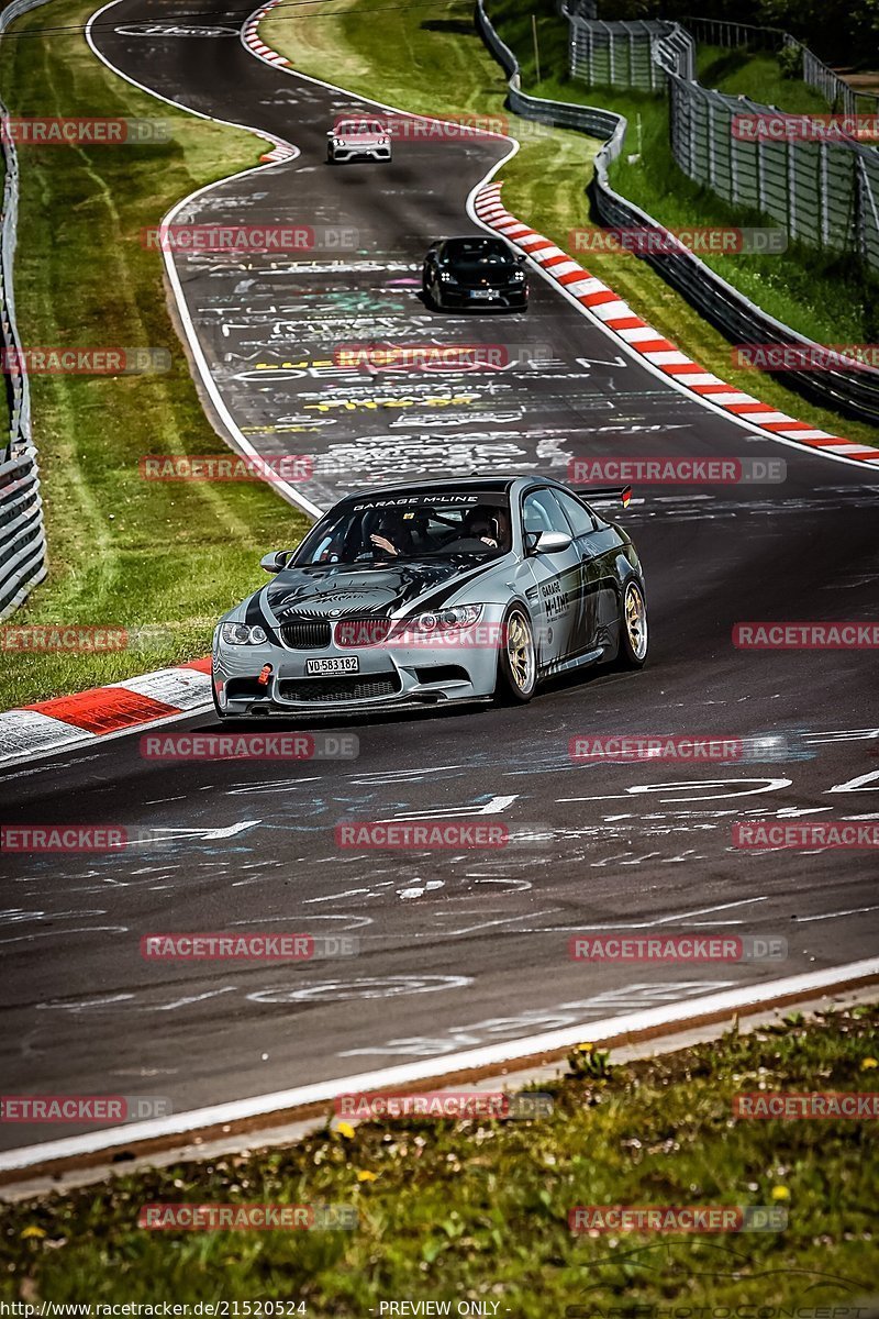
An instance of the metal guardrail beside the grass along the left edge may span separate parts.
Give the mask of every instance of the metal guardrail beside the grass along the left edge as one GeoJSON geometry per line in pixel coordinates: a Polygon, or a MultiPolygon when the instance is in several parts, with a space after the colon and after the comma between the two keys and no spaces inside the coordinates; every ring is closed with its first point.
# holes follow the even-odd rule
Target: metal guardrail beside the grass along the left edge
{"type": "MultiPolygon", "coordinates": [[[[49,0],[13,0],[0,13],[0,41],[14,18],[49,0]]],[[[0,100],[0,117],[9,111],[0,100]]],[[[16,324],[13,260],[18,220],[18,157],[14,142],[0,142],[3,152],[3,219],[0,220],[0,346],[9,413],[9,429],[0,441],[0,619],[18,608],[46,575],[46,534],[40,497],[37,450],[30,435],[30,390],[21,364],[21,339],[16,324]]]]}

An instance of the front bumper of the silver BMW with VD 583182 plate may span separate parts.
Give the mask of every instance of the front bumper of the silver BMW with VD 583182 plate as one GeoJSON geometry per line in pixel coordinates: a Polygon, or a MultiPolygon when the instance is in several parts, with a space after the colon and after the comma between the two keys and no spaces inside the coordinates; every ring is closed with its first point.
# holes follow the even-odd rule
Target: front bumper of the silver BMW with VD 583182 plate
{"type": "Polygon", "coordinates": [[[423,708],[459,700],[488,700],[497,683],[497,636],[467,629],[453,644],[391,641],[358,648],[335,642],[310,650],[289,650],[266,642],[236,646],[216,640],[212,679],[219,710],[225,716],[344,712],[357,710],[423,708]],[[308,660],[357,658],[357,673],[308,674],[308,660]],[[264,666],[271,671],[260,683],[264,666]]]}

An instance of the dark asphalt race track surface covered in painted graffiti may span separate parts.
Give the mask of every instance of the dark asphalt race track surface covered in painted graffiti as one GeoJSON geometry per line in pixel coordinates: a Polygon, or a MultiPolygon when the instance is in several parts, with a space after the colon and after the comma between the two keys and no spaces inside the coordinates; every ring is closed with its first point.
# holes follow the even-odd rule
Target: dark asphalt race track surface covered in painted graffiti
{"type": "MultiPolygon", "coordinates": [[[[781,456],[787,480],[637,491],[621,521],[647,574],[640,674],[556,682],[518,710],[322,724],[356,733],[356,761],[157,764],[133,735],[0,774],[9,823],[162,838],[121,857],[4,859],[5,1091],[161,1095],[183,1111],[553,1026],[582,1022],[588,1038],[588,1022],[614,1012],[874,954],[875,855],[747,853],[731,826],[879,818],[875,653],[749,653],[730,633],[742,620],[875,617],[879,477],[688,400],[536,273],[527,315],[431,313],[416,288],[423,252],[476,228],[468,194],[507,145],[403,141],[391,165],[328,168],[326,131],[356,99],[261,63],[235,36],[117,30],[174,9],[121,0],[94,41],[163,96],[300,152],[213,187],[177,220],[357,231],[356,249],[336,253],[177,259],[224,404],[260,452],[312,458],[308,500],[327,506],[358,484],[424,471],[564,477],[584,455],[781,456]],[[315,365],[339,343],[431,336],[539,346],[550,360],[402,379],[315,365]],[[585,732],[783,736],[742,764],[573,764],[569,739],[585,732]],[[335,845],[340,820],[407,818],[502,822],[514,842],[432,853],[335,845]],[[621,929],[772,935],[788,955],[571,960],[572,933],[621,929]],[[345,933],[360,954],[145,962],[141,935],[163,930],[345,933]]],[[[186,9],[199,12],[192,0],[186,9]]],[[[210,13],[237,29],[248,11],[210,13]]],[[[174,725],[213,727],[207,715],[174,725]]],[[[75,1130],[4,1124],[0,1141],[75,1130]]]]}

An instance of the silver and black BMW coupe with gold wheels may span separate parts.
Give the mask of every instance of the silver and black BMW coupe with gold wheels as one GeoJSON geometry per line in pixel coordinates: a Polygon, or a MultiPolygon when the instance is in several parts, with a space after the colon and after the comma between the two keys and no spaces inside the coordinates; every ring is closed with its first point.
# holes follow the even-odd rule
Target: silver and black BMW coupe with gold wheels
{"type": "Polygon", "coordinates": [[[627,533],[548,477],[349,495],[213,633],[223,719],[531,699],[553,674],[647,658],[627,533]]]}

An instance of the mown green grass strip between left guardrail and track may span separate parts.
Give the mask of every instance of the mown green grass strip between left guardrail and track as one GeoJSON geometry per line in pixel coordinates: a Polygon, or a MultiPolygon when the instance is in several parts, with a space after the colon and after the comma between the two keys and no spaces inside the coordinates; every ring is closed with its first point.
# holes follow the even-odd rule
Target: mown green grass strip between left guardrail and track
{"type": "MultiPolygon", "coordinates": [[[[14,25],[83,24],[66,0],[14,25]]],[[[158,624],[149,652],[3,654],[0,710],[202,656],[216,617],[258,584],[266,549],[306,526],[260,483],[150,483],[144,454],[227,452],[199,402],[166,307],[161,255],[140,231],[194,189],[258,162],[265,144],[194,119],[116,78],[80,34],[3,41],[12,113],[159,117],[167,142],[18,149],[16,303],[26,346],[150,346],[166,375],[33,376],[50,575],[8,625],[158,624]]]]}

